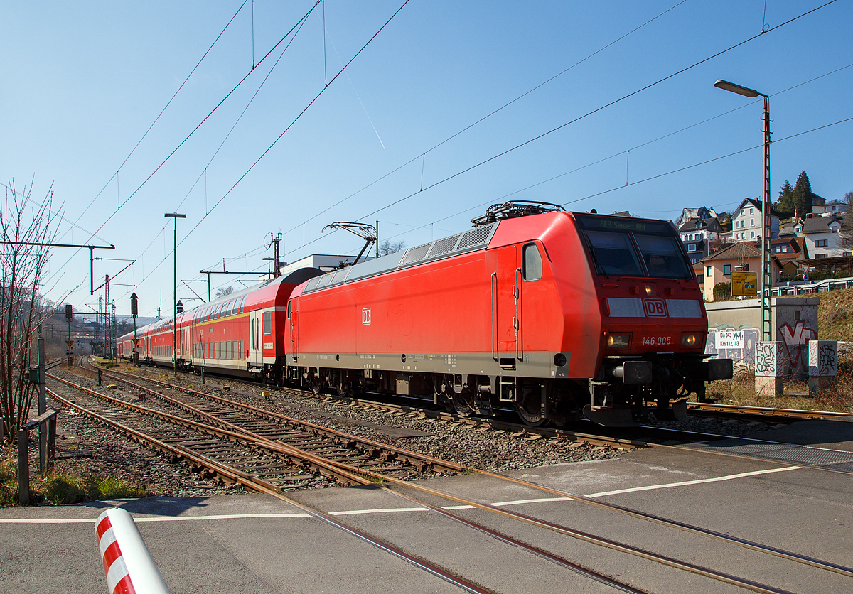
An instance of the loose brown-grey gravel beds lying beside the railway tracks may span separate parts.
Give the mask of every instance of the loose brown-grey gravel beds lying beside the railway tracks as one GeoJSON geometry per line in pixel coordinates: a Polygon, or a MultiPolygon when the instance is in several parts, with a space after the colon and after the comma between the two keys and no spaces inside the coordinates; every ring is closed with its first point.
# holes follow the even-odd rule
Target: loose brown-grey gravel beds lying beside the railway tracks
{"type": "MultiPolygon", "coordinates": [[[[171,379],[171,375],[143,368],[136,372],[148,378],[171,379]]],[[[97,389],[96,382],[87,377],[73,376],[72,381],[97,389]]],[[[136,401],[139,392],[125,389],[115,382],[118,390],[109,390],[118,398],[136,401]]],[[[194,389],[242,401],[252,406],[403,447],[456,464],[479,470],[504,472],[589,460],[615,458],[620,451],[610,447],[592,446],[565,439],[546,439],[506,431],[482,430],[467,424],[456,424],[407,414],[393,414],[370,407],[345,404],[316,398],[311,395],[293,395],[287,391],[270,390],[270,399],[264,399],[262,388],[251,384],[208,376],[201,386],[197,378],[182,376],[181,384],[194,389]],[[409,437],[388,435],[409,430],[419,434],[409,437]],[[427,434],[427,435],[422,435],[427,434]]],[[[100,390],[107,393],[107,378],[100,390]]],[[[144,404],[144,403],[143,403],[144,404]]],[[[49,402],[49,407],[54,406],[49,402]]],[[[714,418],[691,418],[687,422],[653,422],[653,425],[674,429],[698,430],[721,435],[747,435],[767,429],[763,423],[721,421],[714,418]]],[[[184,464],[177,464],[161,453],[149,450],[123,435],[107,430],[98,422],[75,412],[61,409],[57,424],[57,470],[76,470],[83,474],[116,476],[142,483],[153,495],[171,497],[207,497],[229,493],[246,493],[244,487],[229,486],[204,473],[194,472],[184,464]],[[81,456],[74,458],[74,456],[81,456]]],[[[421,473],[420,476],[444,476],[444,473],[421,473]]]]}

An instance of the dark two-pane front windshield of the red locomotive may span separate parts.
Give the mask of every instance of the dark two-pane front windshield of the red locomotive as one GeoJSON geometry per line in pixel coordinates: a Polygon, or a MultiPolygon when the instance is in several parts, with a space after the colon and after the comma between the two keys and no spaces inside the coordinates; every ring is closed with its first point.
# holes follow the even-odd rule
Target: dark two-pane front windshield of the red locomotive
{"type": "Polygon", "coordinates": [[[693,277],[669,223],[577,215],[598,274],[664,279],[693,277]]]}

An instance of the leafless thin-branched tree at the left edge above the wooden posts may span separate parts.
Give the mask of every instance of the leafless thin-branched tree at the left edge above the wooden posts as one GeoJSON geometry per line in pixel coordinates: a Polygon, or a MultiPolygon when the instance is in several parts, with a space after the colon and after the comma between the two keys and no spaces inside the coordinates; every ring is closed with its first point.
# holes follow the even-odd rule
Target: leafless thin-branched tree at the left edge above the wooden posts
{"type": "Polygon", "coordinates": [[[32,384],[26,371],[31,365],[36,327],[47,317],[38,293],[46,271],[49,247],[54,241],[54,223],[60,215],[51,209],[53,190],[39,204],[32,199],[32,183],[22,193],[9,182],[0,210],[3,254],[0,270],[0,421],[8,441],[26,420],[32,397],[32,384]]]}

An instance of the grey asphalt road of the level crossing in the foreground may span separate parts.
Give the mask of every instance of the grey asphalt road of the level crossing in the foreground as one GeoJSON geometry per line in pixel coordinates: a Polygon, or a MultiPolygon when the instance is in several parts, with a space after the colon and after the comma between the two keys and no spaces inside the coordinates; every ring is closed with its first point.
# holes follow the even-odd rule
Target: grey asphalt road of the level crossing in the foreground
{"type": "MultiPolygon", "coordinates": [[[[761,437],[853,450],[853,423],[799,423],[761,437]]],[[[609,460],[519,470],[512,476],[853,565],[853,475],[654,448],[609,460]]],[[[844,575],[486,476],[424,484],[784,591],[853,591],[853,578],[844,575]]],[[[616,591],[378,487],[329,488],[293,497],[493,591],[616,591]]],[[[430,501],[458,507],[446,499],[430,501]]],[[[0,591],[107,591],[94,523],[109,506],[131,512],[174,594],[460,591],[292,505],[259,494],[0,510],[0,591]]],[[[744,591],[484,510],[456,513],[656,594],[744,591]]]]}

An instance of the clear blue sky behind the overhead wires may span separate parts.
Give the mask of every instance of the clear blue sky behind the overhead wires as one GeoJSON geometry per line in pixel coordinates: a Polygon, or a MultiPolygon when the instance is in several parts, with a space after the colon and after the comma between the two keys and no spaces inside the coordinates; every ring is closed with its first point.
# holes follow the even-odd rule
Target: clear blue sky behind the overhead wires
{"type": "MultiPolygon", "coordinates": [[[[822,2],[403,2],[326,0],[276,47],[313,2],[3,1],[0,181],[35,176],[38,198],[53,184],[63,243],[116,246],[96,252],[115,259],[96,285],[136,260],[111,297],[127,313],[136,291],[141,315],[171,311],[165,212],[187,215],[193,307],[182,280],[206,297],[201,269],[264,271],[270,232],[293,262],[361,249],[330,222],[379,220],[380,239],[415,246],[508,199],[731,210],[762,192],[763,106],[717,78],[770,95],[774,197],[801,170],[826,199],[853,191],[853,121],[835,124],[853,118],[849,0],[784,26],[822,2]]],[[[44,292],[97,307],[88,274],[88,250],[55,249],[44,292]]]]}

